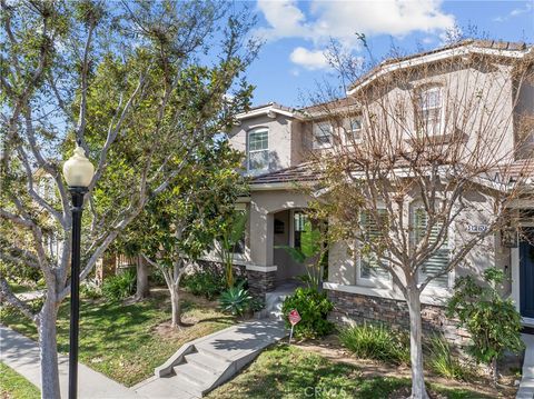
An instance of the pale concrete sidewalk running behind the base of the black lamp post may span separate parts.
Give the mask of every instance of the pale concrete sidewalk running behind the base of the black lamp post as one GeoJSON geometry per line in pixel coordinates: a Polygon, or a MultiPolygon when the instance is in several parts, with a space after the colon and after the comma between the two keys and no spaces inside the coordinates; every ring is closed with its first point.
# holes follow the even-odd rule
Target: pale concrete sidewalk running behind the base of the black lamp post
{"type": "MultiPolygon", "coordinates": [[[[0,325],[0,361],[40,389],[41,370],[36,341],[0,325]]],[[[59,379],[62,397],[68,392],[69,358],[59,356],[59,379]]],[[[81,399],[145,398],[89,367],[78,365],[78,397],[81,399]]]]}

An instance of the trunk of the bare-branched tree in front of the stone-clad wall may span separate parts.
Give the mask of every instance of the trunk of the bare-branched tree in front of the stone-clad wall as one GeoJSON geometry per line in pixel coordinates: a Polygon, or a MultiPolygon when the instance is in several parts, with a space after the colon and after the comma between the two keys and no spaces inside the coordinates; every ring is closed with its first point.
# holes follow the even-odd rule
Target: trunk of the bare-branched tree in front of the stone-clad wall
{"type": "Polygon", "coordinates": [[[423,369],[421,298],[416,287],[407,287],[409,310],[409,353],[412,362],[412,399],[427,399],[423,369]]]}

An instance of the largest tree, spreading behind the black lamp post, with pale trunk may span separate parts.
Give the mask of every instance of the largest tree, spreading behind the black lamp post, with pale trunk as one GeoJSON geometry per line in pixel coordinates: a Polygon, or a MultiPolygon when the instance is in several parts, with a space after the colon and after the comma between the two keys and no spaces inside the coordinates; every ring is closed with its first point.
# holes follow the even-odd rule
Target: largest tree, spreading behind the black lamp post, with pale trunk
{"type": "Polygon", "coordinates": [[[195,154],[246,109],[251,87],[240,77],[257,46],[254,23],[224,1],[0,0],[2,259],[41,273],[47,295],[34,312],[0,278],[1,300],[39,331],[42,397],[59,398],[56,320],[69,296],[72,213],[61,162],[79,142],[96,173],[86,196],[86,278],[118,235],[197,162],[195,154]],[[199,60],[211,56],[212,62],[199,60]],[[43,196],[37,172],[53,184],[43,196]],[[62,242],[47,248],[52,229],[62,242]]]}

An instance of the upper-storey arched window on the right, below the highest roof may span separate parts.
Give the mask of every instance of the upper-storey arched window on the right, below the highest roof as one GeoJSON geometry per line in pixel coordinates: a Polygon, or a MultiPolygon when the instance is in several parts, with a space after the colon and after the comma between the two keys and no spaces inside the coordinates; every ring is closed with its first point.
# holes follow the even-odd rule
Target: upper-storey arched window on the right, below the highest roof
{"type": "Polygon", "coordinates": [[[442,89],[429,88],[422,90],[417,97],[417,133],[419,136],[435,136],[441,133],[442,127],[442,89]]]}

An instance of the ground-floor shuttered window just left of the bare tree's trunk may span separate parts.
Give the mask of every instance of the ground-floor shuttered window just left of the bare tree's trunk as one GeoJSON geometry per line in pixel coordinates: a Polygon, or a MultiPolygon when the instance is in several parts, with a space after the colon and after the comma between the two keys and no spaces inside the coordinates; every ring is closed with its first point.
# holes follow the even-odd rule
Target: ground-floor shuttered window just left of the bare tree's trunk
{"type": "MultiPolygon", "coordinates": [[[[379,209],[378,216],[383,221],[385,221],[387,218],[386,210],[379,209]]],[[[376,221],[370,215],[370,212],[362,212],[360,218],[362,227],[364,228],[366,236],[370,240],[379,240],[379,238],[382,237],[382,232],[376,226],[376,221]]],[[[362,253],[362,256],[359,257],[359,278],[366,280],[389,280],[389,272],[384,269],[385,266],[387,266],[387,261],[384,259],[379,259],[377,253],[372,251],[362,253]]]]}

